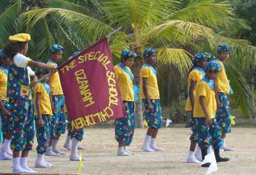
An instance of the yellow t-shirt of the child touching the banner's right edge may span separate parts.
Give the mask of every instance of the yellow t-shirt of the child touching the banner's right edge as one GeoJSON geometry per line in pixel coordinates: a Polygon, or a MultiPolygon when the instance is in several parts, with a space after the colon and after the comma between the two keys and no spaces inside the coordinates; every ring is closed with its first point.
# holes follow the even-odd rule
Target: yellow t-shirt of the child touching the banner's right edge
{"type": "MultiPolygon", "coordinates": [[[[126,68],[130,70],[130,68],[126,68]]],[[[114,69],[122,100],[134,102],[134,91],[130,76],[118,65],[115,65],[114,69]]]]}

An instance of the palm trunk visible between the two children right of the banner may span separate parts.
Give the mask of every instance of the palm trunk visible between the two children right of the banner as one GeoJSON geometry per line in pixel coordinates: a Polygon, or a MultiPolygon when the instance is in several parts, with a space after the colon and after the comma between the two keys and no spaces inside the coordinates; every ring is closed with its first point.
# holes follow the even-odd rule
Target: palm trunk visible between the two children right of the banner
{"type": "MultiPolygon", "coordinates": [[[[132,72],[134,75],[134,84],[138,87],[140,87],[140,68],[141,68],[142,62],[140,59],[136,59],[134,61],[134,64],[132,66],[132,72]]],[[[142,90],[142,89],[140,89],[142,90]]],[[[136,102],[137,110],[135,112],[136,114],[136,128],[144,128],[143,123],[143,111],[142,111],[142,104],[141,100],[138,100],[136,102]]]]}

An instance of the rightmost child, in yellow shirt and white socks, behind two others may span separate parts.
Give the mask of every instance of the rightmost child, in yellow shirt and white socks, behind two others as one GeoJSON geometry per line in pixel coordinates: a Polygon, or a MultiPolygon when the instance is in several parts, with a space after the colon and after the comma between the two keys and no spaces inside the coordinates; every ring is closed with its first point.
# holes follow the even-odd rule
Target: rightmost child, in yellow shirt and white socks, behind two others
{"type": "Polygon", "coordinates": [[[226,133],[231,132],[230,102],[228,100],[228,95],[230,94],[230,85],[224,66],[224,61],[228,59],[228,51],[229,47],[227,45],[219,45],[217,49],[218,59],[214,60],[221,67],[221,72],[216,79],[218,91],[218,95],[216,96],[218,104],[216,120],[219,123],[222,131],[221,140],[223,141],[223,145],[220,149],[223,149],[224,151],[234,151],[233,149],[228,148],[225,144],[226,133]]]}

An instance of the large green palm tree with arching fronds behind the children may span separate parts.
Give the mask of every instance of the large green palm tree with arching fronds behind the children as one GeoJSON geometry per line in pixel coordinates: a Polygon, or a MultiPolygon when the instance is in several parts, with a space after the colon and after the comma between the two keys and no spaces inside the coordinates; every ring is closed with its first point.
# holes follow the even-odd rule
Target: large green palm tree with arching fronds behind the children
{"type": "MultiPolygon", "coordinates": [[[[220,39],[232,41],[223,37],[220,29],[230,31],[237,24],[245,26],[243,20],[234,19],[233,15],[227,4],[212,0],[48,0],[45,8],[22,13],[26,30],[34,38],[33,57],[37,59],[47,59],[47,49],[53,42],[64,45],[65,53],[70,55],[122,26],[109,43],[113,56],[118,57],[122,49],[131,49],[140,56],[133,68],[136,84],[145,47],[159,50],[159,64],[184,72],[191,66],[187,47],[197,51],[205,45],[213,49],[220,39]]],[[[140,127],[141,113],[139,102],[140,127]]]]}

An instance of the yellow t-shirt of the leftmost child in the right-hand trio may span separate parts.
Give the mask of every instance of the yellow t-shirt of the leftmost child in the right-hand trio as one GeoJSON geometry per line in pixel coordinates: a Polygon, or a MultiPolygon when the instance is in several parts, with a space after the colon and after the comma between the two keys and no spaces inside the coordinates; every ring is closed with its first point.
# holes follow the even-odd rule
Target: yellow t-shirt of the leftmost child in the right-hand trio
{"type": "MultiPolygon", "coordinates": [[[[191,83],[191,80],[195,81],[196,83],[199,82],[201,79],[203,78],[203,75],[199,72],[199,70],[192,70],[189,75],[188,75],[188,93],[189,93],[189,88],[190,88],[190,83],[191,83]]],[[[195,96],[195,89],[194,89],[194,96],[195,96]]],[[[190,103],[190,99],[189,99],[189,96],[188,96],[188,100],[187,100],[187,103],[186,103],[186,108],[185,108],[186,111],[190,111],[192,110],[192,106],[191,106],[191,103],[190,103]]]]}

